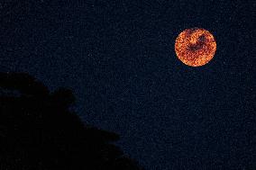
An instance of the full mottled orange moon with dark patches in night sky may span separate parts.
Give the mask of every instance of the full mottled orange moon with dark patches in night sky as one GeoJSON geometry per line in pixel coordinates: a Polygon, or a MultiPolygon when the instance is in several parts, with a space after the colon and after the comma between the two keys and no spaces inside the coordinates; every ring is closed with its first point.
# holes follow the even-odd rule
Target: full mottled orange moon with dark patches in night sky
{"type": "Polygon", "coordinates": [[[175,52],[180,61],[190,67],[206,65],[215,56],[214,36],[205,29],[192,28],[178,34],[175,52]]]}

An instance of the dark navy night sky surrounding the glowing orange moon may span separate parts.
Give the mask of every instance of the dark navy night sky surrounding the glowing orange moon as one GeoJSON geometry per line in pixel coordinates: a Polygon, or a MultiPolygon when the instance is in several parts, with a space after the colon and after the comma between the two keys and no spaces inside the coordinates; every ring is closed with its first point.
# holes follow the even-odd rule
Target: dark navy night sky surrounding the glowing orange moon
{"type": "Polygon", "coordinates": [[[146,169],[256,169],[249,2],[2,0],[0,71],[72,89],[82,120],[146,169]],[[174,50],[194,27],[217,44],[203,67],[174,50]]]}

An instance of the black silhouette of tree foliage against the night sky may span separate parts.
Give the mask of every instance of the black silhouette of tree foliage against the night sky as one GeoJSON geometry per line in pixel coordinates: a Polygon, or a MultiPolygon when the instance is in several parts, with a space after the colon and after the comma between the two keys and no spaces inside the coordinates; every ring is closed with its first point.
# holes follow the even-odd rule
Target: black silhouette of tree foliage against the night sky
{"type": "Polygon", "coordinates": [[[23,73],[0,73],[1,170],[142,170],[114,146],[119,136],[85,125],[69,89],[50,93],[23,73]]]}

